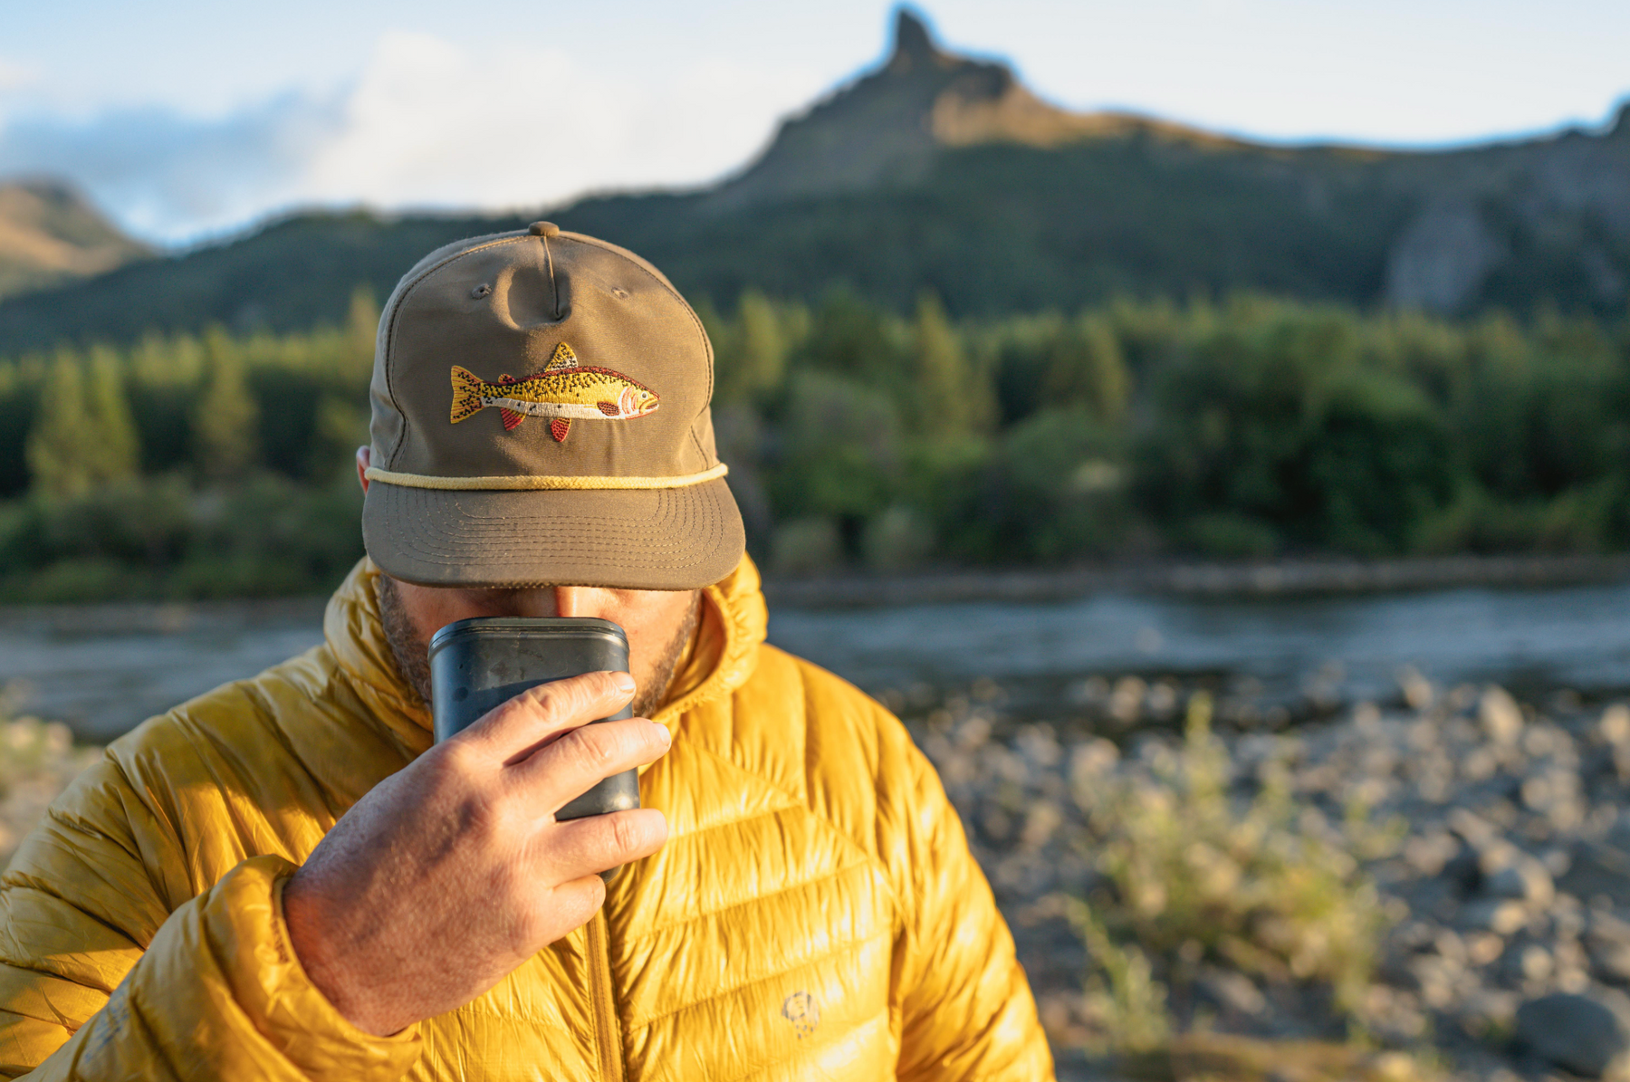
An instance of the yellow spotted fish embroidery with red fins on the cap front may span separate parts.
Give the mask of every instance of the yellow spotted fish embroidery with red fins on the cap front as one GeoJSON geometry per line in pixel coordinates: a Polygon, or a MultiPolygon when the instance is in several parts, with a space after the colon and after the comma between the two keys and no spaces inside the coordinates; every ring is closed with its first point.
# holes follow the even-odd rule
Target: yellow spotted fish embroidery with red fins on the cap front
{"type": "Polygon", "coordinates": [[[556,443],[572,430],[572,420],[628,420],[657,409],[657,393],[629,380],[621,372],[579,365],[577,354],[566,342],[554,347],[554,357],[530,380],[499,376],[486,383],[468,368],[453,365],[453,412],[456,425],[487,406],[497,406],[505,429],[526,417],[548,417],[556,443]]]}

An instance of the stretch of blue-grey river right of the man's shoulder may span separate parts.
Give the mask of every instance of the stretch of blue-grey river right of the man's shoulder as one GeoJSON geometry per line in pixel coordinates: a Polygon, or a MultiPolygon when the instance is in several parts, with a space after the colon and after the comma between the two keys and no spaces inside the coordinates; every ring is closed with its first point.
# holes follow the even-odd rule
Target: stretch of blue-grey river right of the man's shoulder
{"type": "Polygon", "coordinates": [[[1333,678],[1343,699],[1438,684],[1630,688],[1630,583],[1208,601],[1095,595],[887,611],[782,611],[769,639],[867,689],[1053,683],[1092,673],[1250,676],[1268,696],[1333,678]]]}

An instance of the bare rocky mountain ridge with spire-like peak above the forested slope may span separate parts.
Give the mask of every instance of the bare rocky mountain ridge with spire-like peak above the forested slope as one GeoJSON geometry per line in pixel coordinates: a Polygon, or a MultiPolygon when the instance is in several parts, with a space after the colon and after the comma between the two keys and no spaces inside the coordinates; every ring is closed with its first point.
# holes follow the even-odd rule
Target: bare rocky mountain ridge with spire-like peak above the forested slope
{"type": "Polygon", "coordinates": [[[1061,109],[1002,64],[942,51],[906,8],[896,11],[895,47],[877,70],[782,124],[766,153],[704,207],[910,187],[950,148],[1053,150],[1128,139],[1257,156],[1268,173],[1301,171],[1299,187],[1312,205],[1327,199],[1332,183],[1366,181],[1415,202],[1389,246],[1381,290],[1389,305],[1464,310],[1490,275],[1531,254],[1522,251],[1529,244],[1506,236],[1513,227],[1531,235],[1524,238],[1531,244],[1571,248],[1568,270],[1602,303],[1622,303],[1630,290],[1630,104],[1601,134],[1571,129],[1415,152],[1271,147],[1125,112],[1061,109]]]}

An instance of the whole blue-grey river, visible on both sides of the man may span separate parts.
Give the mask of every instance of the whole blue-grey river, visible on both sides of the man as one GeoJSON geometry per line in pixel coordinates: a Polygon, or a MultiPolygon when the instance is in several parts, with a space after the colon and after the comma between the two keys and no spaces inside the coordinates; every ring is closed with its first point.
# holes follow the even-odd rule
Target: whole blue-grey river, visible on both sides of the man
{"type": "MultiPolygon", "coordinates": [[[[142,719],[321,642],[319,601],[0,611],[13,709],[109,740],[142,719]]],[[[1196,601],[1100,593],[1063,603],[778,609],[769,639],[874,693],[980,678],[1032,704],[1090,675],[1249,678],[1265,699],[1322,681],[1338,701],[1439,686],[1630,689],[1630,583],[1389,596],[1196,601]]]]}

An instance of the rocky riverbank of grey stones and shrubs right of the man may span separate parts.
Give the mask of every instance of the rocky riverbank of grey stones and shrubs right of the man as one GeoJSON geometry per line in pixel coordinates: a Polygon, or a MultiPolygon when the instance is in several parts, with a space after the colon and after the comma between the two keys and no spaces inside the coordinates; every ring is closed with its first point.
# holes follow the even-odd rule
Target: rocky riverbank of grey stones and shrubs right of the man
{"type": "Polygon", "coordinates": [[[1066,1072],[1195,1031],[1405,1056],[1386,1077],[1630,1067],[1622,704],[1407,673],[1390,709],[1268,733],[1134,680],[1051,724],[1009,724],[994,684],[885,697],[963,813],[1066,1072]]]}

